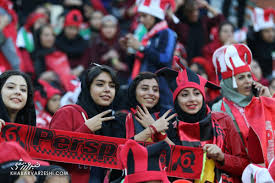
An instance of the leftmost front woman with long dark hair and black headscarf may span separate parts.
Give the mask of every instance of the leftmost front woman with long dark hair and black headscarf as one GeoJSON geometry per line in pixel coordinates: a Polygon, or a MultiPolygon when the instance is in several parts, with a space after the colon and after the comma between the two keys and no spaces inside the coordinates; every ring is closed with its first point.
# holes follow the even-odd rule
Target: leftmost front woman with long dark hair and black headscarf
{"type": "Polygon", "coordinates": [[[5,121],[36,125],[33,88],[28,75],[13,70],[2,73],[0,75],[0,91],[1,124],[4,124],[5,121]]]}

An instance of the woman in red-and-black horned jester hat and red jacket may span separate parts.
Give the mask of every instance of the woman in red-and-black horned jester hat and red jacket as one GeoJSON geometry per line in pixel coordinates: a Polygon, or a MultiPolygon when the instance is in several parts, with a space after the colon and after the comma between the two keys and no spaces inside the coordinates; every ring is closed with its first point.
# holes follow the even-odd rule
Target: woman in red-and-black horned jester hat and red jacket
{"type": "Polygon", "coordinates": [[[204,181],[240,182],[242,171],[249,163],[241,139],[230,116],[211,112],[205,104],[204,87],[219,87],[177,61],[182,71],[164,68],[157,72],[165,77],[173,91],[174,107],[178,114],[176,123],[171,124],[167,132],[168,137],[176,145],[204,149],[209,158],[205,171],[212,172],[212,176],[205,173],[207,177],[204,181]]]}

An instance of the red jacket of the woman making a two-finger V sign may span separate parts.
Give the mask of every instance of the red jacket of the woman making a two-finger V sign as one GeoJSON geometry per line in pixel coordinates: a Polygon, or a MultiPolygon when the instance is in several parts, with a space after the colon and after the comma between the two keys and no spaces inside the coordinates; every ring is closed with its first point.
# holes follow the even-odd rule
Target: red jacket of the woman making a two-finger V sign
{"type": "MultiPolygon", "coordinates": [[[[66,105],[60,108],[53,116],[50,129],[59,129],[81,133],[92,133],[85,125],[82,113],[88,119],[86,111],[79,105],[66,105]]],[[[72,183],[87,183],[90,178],[90,168],[83,165],[63,164],[69,171],[72,183]]]]}

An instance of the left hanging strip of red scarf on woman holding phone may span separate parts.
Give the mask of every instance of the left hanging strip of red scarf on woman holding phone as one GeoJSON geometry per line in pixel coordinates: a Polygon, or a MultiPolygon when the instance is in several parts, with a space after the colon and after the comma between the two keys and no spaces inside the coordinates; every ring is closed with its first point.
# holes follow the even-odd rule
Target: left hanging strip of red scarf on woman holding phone
{"type": "MultiPolygon", "coordinates": [[[[236,128],[240,130],[241,132],[241,139],[243,143],[245,144],[245,147],[247,147],[247,136],[249,131],[249,123],[245,116],[245,108],[238,106],[234,102],[227,100],[225,97],[223,98],[223,101],[229,106],[235,121],[236,121],[236,128]]],[[[224,106],[222,106],[224,107],[224,106]]],[[[222,109],[224,111],[224,109],[222,109]]]]}

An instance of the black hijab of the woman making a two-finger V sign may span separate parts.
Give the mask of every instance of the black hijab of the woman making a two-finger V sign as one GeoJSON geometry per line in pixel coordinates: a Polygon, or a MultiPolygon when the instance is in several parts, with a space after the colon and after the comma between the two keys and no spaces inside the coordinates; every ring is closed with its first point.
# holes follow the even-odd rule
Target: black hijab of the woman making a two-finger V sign
{"type": "MultiPolygon", "coordinates": [[[[118,84],[118,81],[116,78],[116,74],[112,68],[105,66],[105,65],[97,65],[97,66],[92,67],[88,71],[86,71],[83,78],[81,79],[81,92],[78,96],[77,104],[80,105],[87,112],[89,119],[103,111],[106,111],[108,109],[113,109],[113,103],[111,103],[109,106],[97,105],[94,102],[94,100],[90,94],[90,86],[91,86],[93,80],[102,72],[107,72],[110,74],[113,82],[115,83],[116,94],[119,89],[119,84],[118,84]]],[[[96,134],[112,136],[109,134],[111,132],[104,131],[104,129],[105,129],[104,125],[108,125],[108,124],[110,125],[111,121],[113,121],[113,120],[108,121],[110,123],[108,123],[108,122],[102,123],[102,128],[100,130],[97,130],[96,134]]]]}

